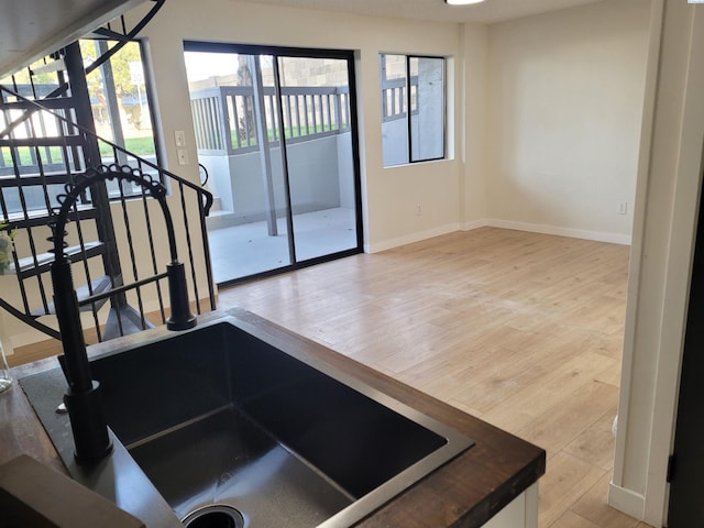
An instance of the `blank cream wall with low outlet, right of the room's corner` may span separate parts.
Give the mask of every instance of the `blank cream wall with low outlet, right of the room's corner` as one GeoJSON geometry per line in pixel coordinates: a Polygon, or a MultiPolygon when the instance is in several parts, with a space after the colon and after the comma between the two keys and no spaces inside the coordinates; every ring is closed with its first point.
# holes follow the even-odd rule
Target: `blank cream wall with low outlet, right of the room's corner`
{"type": "Polygon", "coordinates": [[[649,4],[616,0],[490,26],[492,223],[629,242],[649,4]]]}

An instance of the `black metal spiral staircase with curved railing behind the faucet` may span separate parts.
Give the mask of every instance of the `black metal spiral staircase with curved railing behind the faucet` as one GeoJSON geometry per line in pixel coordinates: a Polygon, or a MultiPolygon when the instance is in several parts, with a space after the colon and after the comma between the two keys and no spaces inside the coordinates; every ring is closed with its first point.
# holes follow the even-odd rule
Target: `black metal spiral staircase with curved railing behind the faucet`
{"type": "MultiPolygon", "coordinates": [[[[122,21],[121,31],[102,28],[92,36],[130,42],[162,3],[155,2],[130,31],[122,21]]],[[[205,223],[212,196],[95,132],[86,76],[119,47],[101,45],[103,54],[86,68],[76,42],[36,68],[54,76],[51,86],[35,84],[36,72],[30,73],[29,82],[14,76],[11,86],[0,86],[0,219],[18,230],[12,251],[16,288],[0,289],[0,307],[55,339],[61,334],[51,294],[53,226],[65,186],[90,172],[147,175],[169,189],[169,209],[184,239],[179,254],[189,274],[189,298],[198,314],[216,307],[205,223]]],[[[64,254],[73,263],[74,283],[84,284],[77,295],[86,314],[84,328],[91,321],[95,332],[89,340],[141,331],[168,317],[167,288],[162,286],[168,252],[163,250],[165,226],[155,207],[139,186],[109,188],[101,182],[73,208],[64,254]]]]}

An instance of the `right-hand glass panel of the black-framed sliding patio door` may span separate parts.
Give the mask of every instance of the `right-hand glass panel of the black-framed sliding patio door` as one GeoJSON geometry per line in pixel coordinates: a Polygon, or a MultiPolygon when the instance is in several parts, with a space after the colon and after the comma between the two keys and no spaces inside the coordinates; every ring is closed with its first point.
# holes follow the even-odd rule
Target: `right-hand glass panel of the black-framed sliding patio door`
{"type": "Polygon", "coordinates": [[[278,74],[296,258],[353,248],[358,211],[348,62],[280,56],[278,74]]]}

